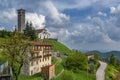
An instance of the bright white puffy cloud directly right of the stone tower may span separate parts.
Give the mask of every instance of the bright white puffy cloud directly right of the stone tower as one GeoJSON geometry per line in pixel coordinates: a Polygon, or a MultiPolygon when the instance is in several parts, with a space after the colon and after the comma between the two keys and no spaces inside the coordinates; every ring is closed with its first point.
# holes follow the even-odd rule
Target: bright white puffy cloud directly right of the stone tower
{"type": "Polygon", "coordinates": [[[45,16],[37,13],[26,13],[26,21],[32,22],[35,29],[41,29],[45,27],[45,16]]]}

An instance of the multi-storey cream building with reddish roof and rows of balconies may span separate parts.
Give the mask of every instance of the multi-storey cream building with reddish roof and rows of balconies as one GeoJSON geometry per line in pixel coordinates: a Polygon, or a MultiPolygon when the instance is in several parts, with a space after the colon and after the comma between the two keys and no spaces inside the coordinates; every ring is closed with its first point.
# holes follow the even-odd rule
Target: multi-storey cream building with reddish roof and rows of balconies
{"type": "Polygon", "coordinates": [[[41,72],[41,68],[51,65],[51,55],[53,46],[45,42],[32,42],[32,53],[28,53],[30,58],[28,64],[22,67],[21,74],[33,75],[41,72]]]}

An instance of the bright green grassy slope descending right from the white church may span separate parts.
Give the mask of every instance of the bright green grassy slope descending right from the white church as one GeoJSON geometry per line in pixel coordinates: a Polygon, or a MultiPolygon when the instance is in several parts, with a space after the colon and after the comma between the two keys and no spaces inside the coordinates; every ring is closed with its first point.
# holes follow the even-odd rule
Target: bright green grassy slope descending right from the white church
{"type": "Polygon", "coordinates": [[[44,42],[48,42],[48,43],[52,44],[54,46],[54,50],[59,51],[61,54],[71,53],[71,50],[68,47],[66,47],[64,44],[60,43],[59,41],[46,39],[46,40],[44,40],[44,42]]]}

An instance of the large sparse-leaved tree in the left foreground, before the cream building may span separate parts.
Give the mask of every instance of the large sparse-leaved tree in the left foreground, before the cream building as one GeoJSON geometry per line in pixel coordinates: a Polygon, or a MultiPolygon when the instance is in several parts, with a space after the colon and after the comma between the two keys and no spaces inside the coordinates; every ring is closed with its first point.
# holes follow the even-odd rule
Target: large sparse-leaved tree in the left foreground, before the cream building
{"type": "Polygon", "coordinates": [[[3,56],[9,61],[12,67],[15,80],[18,80],[21,68],[28,58],[28,40],[20,33],[13,33],[9,41],[0,44],[3,49],[3,56]]]}

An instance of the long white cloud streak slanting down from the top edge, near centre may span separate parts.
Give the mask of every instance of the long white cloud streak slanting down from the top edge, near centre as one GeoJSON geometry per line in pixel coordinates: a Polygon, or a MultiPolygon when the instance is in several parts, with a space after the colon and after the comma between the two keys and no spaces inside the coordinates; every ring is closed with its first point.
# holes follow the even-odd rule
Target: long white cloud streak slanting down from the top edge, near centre
{"type": "Polygon", "coordinates": [[[43,6],[48,12],[47,16],[52,20],[51,23],[63,24],[64,22],[69,21],[69,16],[59,12],[51,1],[45,1],[43,6]]]}

